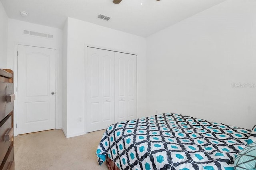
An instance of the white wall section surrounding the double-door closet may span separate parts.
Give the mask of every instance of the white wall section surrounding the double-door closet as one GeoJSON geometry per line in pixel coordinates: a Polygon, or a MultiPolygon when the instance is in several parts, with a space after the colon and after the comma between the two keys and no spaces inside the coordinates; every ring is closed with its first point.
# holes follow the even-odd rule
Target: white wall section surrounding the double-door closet
{"type": "Polygon", "coordinates": [[[67,137],[84,134],[85,45],[137,54],[138,117],[146,116],[146,40],[103,26],[68,18],[67,137]]]}

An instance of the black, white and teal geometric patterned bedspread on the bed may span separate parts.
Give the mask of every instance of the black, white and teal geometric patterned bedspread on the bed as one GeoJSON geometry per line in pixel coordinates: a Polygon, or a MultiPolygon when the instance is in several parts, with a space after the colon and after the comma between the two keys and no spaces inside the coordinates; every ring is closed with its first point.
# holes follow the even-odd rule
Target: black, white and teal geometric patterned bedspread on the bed
{"type": "Polygon", "coordinates": [[[250,131],[164,113],[109,126],[96,150],[122,170],[234,170],[250,131]]]}

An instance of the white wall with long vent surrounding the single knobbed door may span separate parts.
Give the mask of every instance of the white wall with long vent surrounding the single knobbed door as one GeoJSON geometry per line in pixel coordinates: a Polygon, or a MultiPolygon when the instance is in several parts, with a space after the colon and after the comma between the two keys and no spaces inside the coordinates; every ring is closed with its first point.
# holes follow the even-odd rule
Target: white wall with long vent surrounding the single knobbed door
{"type": "MultiPolygon", "coordinates": [[[[47,47],[56,49],[56,128],[62,128],[62,30],[32,24],[19,20],[8,20],[8,58],[7,67],[14,71],[14,89],[17,87],[17,47],[18,44],[32,45],[38,47],[47,47]],[[23,34],[23,30],[31,30],[46,34],[52,34],[53,39],[41,38],[23,34]]],[[[16,93],[16,92],[15,92],[16,93]]],[[[16,94],[17,95],[17,94],[16,94]]],[[[14,103],[14,125],[17,122],[17,109],[14,103]]],[[[16,127],[16,126],[14,126],[16,127]]],[[[14,134],[16,135],[17,129],[15,128],[14,134]]]]}

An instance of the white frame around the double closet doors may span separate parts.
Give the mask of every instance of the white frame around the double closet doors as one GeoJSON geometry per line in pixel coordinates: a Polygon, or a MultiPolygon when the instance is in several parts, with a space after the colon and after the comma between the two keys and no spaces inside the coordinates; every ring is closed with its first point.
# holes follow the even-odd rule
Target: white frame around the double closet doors
{"type": "Polygon", "coordinates": [[[94,45],[94,44],[88,44],[88,43],[84,43],[84,134],[87,134],[87,129],[86,129],[86,94],[87,94],[87,47],[92,47],[92,48],[98,48],[98,49],[103,49],[103,50],[108,50],[108,51],[114,51],[114,52],[119,52],[119,53],[127,53],[127,54],[132,54],[132,55],[136,55],[136,72],[137,72],[137,76],[136,76],[136,89],[137,89],[137,95],[136,95],[136,101],[137,101],[137,118],[138,118],[138,54],[132,51],[122,51],[120,49],[113,49],[110,47],[104,47],[104,46],[100,46],[100,45],[94,45]]]}

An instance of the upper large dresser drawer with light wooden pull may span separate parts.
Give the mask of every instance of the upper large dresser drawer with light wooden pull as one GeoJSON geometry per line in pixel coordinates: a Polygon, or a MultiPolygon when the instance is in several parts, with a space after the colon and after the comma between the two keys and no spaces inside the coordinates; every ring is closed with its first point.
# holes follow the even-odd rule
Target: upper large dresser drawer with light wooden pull
{"type": "Polygon", "coordinates": [[[13,83],[0,82],[0,121],[13,111],[14,102],[7,102],[6,95],[14,91],[13,83]]]}

